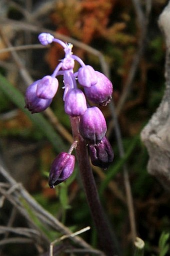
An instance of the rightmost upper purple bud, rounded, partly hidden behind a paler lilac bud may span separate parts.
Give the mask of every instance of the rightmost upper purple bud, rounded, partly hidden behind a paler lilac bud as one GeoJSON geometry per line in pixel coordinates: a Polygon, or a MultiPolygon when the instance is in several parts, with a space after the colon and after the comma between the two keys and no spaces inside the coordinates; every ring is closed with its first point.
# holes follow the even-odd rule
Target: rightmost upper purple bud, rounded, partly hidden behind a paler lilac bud
{"type": "Polygon", "coordinates": [[[106,106],[111,100],[112,84],[102,73],[95,71],[97,83],[89,88],[84,88],[86,97],[93,103],[106,106]]]}

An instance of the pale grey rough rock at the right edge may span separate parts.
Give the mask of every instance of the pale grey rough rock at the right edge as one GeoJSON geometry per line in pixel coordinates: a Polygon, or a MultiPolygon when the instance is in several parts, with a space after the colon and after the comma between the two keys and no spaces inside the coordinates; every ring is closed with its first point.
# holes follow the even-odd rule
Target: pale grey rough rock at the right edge
{"type": "Polygon", "coordinates": [[[170,191],[170,1],[159,16],[166,43],[165,92],[162,101],[141,132],[148,154],[148,172],[170,191]]]}

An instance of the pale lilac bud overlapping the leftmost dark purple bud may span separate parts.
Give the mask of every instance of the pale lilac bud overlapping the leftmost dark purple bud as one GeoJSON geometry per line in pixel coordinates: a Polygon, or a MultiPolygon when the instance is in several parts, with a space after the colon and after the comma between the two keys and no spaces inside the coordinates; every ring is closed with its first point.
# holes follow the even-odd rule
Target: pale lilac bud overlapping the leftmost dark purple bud
{"type": "Polygon", "coordinates": [[[39,80],[36,96],[41,99],[52,99],[58,89],[58,80],[55,77],[45,76],[39,80]]]}

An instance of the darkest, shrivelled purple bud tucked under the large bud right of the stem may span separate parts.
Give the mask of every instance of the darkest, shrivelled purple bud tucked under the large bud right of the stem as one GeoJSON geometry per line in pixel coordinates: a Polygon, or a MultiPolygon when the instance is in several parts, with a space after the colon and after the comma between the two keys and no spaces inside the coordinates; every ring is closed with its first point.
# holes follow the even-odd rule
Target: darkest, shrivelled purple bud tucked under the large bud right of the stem
{"type": "Polygon", "coordinates": [[[107,169],[113,160],[113,151],[108,139],[103,139],[94,145],[88,145],[91,163],[95,166],[107,169]]]}

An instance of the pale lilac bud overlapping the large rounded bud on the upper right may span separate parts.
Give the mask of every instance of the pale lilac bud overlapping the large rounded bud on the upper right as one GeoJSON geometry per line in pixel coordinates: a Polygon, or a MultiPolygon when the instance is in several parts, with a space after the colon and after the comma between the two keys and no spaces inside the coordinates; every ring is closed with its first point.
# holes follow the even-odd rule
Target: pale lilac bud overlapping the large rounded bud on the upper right
{"type": "Polygon", "coordinates": [[[89,65],[79,68],[78,82],[80,85],[84,87],[90,87],[96,84],[97,75],[95,73],[95,70],[89,65]]]}

